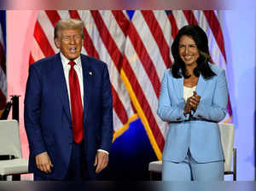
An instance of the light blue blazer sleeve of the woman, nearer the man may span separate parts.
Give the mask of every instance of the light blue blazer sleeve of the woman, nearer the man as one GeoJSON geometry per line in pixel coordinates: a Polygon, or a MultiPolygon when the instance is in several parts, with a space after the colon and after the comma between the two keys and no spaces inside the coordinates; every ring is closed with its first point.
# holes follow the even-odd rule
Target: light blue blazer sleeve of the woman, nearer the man
{"type": "MultiPolygon", "coordinates": [[[[169,72],[169,71],[167,71],[169,72]]],[[[161,83],[160,98],[158,102],[157,114],[160,119],[166,122],[177,122],[189,119],[189,114],[184,115],[184,101],[181,100],[178,103],[173,103],[169,96],[168,86],[170,86],[167,78],[167,72],[165,72],[164,78],[161,83]]]]}

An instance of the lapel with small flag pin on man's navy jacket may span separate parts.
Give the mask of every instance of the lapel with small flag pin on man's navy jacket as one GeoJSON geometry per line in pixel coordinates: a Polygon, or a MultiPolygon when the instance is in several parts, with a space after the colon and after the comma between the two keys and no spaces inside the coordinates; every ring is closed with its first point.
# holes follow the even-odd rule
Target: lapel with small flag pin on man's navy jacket
{"type": "Polygon", "coordinates": [[[90,64],[86,60],[86,57],[81,55],[81,62],[82,62],[82,68],[83,68],[83,81],[84,81],[84,121],[86,119],[88,108],[90,107],[90,90],[92,90],[93,87],[91,87],[91,78],[94,75],[94,73],[91,71],[90,64]]]}

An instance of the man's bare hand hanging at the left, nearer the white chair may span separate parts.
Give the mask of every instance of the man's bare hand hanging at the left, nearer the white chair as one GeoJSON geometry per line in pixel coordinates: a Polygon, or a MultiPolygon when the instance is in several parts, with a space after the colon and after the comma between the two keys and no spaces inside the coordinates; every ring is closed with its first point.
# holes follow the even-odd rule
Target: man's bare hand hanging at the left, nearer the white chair
{"type": "Polygon", "coordinates": [[[44,171],[45,173],[50,173],[51,172],[50,168],[53,167],[47,152],[39,153],[36,156],[36,164],[38,169],[40,171],[44,171]]]}

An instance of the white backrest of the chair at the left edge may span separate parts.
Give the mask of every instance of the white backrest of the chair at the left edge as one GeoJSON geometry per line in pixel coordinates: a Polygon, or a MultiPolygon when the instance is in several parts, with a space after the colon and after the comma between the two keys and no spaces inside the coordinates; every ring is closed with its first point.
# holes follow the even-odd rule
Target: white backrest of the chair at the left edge
{"type": "Polygon", "coordinates": [[[14,155],[15,158],[22,158],[17,120],[0,120],[0,155],[14,155]]]}

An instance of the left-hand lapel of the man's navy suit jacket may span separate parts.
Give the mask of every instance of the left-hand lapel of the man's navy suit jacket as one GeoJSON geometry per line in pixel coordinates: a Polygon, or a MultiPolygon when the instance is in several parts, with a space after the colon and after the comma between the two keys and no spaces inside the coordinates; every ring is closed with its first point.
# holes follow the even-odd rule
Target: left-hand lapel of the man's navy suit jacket
{"type": "Polygon", "coordinates": [[[69,108],[69,98],[68,98],[68,92],[67,92],[67,84],[66,79],[62,67],[61,62],[61,55],[60,53],[55,56],[55,63],[54,64],[54,74],[55,74],[55,90],[58,95],[61,96],[61,102],[64,107],[65,112],[67,113],[67,117],[70,121],[71,119],[71,113],[69,108]]]}

